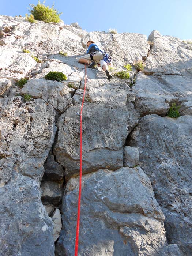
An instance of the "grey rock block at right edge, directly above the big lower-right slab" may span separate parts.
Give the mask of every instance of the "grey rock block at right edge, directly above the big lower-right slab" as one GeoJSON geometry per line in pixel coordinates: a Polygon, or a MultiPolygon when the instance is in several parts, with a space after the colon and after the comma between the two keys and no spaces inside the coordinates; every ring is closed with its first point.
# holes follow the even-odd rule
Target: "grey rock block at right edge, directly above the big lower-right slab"
{"type": "MultiPolygon", "coordinates": [[[[148,58],[147,58],[148,60],[148,58]]],[[[192,101],[192,76],[147,76],[139,72],[133,90],[135,108],[140,116],[158,114],[165,116],[172,103],[181,105],[182,114],[190,114],[192,101]],[[189,103],[188,103],[189,102],[189,103]],[[185,107],[186,106],[186,107],[185,107]]]]}

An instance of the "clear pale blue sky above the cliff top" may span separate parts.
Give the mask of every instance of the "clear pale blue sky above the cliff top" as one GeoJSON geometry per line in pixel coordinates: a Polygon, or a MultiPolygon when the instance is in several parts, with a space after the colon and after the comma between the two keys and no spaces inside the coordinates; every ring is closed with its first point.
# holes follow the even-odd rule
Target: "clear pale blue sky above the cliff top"
{"type": "MultiPolygon", "coordinates": [[[[25,16],[29,3],[38,0],[0,0],[0,14],[25,16]]],[[[55,0],[55,8],[63,12],[60,18],[65,24],[78,22],[88,32],[116,28],[119,33],[148,36],[155,29],[162,35],[192,39],[192,0],[55,0]]]]}

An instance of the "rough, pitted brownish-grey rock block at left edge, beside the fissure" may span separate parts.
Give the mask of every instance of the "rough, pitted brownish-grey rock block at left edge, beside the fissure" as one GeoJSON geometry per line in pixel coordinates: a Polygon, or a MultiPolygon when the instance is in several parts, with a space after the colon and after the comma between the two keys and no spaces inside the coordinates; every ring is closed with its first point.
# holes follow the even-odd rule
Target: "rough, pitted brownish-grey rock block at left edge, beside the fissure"
{"type": "Polygon", "coordinates": [[[1,184],[10,180],[13,171],[41,180],[56,132],[54,117],[53,107],[42,99],[23,102],[22,97],[12,97],[2,106],[1,184]]]}

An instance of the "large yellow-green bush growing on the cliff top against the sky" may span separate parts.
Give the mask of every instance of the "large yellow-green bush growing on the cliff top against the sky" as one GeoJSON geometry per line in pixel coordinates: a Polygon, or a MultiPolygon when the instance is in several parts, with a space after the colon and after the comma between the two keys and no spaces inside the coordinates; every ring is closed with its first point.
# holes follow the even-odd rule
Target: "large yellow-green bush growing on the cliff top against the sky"
{"type": "Polygon", "coordinates": [[[35,20],[42,20],[45,23],[60,22],[59,16],[62,14],[62,12],[58,12],[56,9],[54,9],[54,4],[51,8],[49,6],[45,6],[45,1],[43,3],[38,1],[37,5],[29,4],[29,12],[33,14],[35,20]]]}

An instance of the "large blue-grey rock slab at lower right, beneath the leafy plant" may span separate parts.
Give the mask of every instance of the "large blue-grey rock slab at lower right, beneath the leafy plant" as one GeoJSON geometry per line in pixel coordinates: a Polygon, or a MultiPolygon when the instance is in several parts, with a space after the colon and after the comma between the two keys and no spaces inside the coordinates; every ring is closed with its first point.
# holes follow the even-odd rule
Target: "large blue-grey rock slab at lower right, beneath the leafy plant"
{"type": "Polygon", "coordinates": [[[156,199],[165,214],[170,243],[183,255],[192,251],[191,152],[192,117],[178,119],[149,115],[131,134],[129,146],[138,147],[140,166],[150,178],[156,199]]]}

